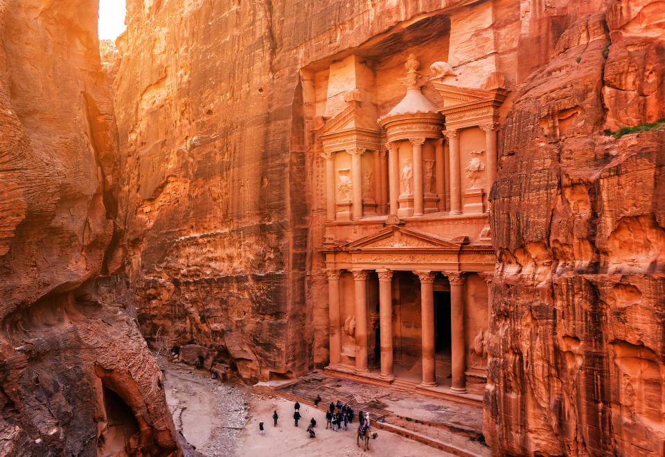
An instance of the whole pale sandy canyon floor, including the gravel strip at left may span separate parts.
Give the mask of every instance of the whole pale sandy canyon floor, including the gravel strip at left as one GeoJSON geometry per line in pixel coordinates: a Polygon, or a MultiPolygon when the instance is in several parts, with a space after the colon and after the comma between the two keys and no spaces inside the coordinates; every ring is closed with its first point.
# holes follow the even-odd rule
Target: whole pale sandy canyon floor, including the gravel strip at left
{"type": "Polygon", "coordinates": [[[357,422],[348,431],[326,430],[322,411],[302,405],[303,418],[294,426],[294,402],[281,397],[254,395],[242,384],[222,384],[209,379],[208,373],[181,364],[160,361],[165,370],[166,400],[175,427],[197,451],[211,457],[272,456],[451,456],[418,442],[375,429],[369,451],[356,446],[357,422]],[[277,411],[277,427],[272,412],[277,411]],[[316,438],[305,431],[311,418],[317,420],[316,438]],[[265,436],[260,436],[258,422],[263,421],[265,436]]]}

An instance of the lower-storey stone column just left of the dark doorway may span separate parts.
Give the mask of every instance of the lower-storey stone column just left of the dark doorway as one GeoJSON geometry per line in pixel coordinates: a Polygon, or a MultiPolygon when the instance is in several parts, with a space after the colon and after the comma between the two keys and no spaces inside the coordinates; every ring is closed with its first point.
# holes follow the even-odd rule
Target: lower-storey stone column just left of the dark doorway
{"type": "Polygon", "coordinates": [[[414,271],[420,279],[420,332],[423,339],[423,386],[436,386],[434,364],[434,274],[414,271]]]}

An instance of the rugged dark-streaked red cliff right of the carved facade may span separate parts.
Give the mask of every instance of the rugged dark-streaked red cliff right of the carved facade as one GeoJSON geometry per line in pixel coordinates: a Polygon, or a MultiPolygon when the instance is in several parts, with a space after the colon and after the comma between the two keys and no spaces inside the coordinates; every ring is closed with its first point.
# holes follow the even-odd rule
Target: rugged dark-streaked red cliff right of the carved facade
{"type": "Polygon", "coordinates": [[[485,436],[497,454],[662,456],[665,132],[603,130],[664,117],[665,10],[580,8],[532,2],[535,30],[561,33],[503,129],[485,436]]]}

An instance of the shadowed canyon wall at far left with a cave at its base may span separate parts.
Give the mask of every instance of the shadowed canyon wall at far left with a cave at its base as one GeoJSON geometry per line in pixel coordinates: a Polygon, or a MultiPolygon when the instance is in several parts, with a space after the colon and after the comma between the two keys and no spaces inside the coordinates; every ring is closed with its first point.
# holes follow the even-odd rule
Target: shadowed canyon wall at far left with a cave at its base
{"type": "Polygon", "coordinates": [[[175,455],[118,241],[97,1],[0,1],[0,454],[175,455]]]}

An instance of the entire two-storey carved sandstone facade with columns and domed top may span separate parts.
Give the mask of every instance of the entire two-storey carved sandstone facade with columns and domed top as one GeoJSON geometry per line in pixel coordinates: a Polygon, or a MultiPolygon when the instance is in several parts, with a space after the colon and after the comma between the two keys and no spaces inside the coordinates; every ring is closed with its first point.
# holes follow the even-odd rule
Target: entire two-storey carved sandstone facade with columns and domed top
{"type": "Polygon", "coordinates": [[[432,64],[430,80],[414,53],[404,64],[403,89],[378,84],[358,55],[328,69],[326,93],[351,82],[316,132],[326,174],[319,252],[328,274],[328,368],[385,383],[419,373],[421,388],[456,394],[467,393],[468,378],[479,394],[486,357],[473,351],[474,338],[488,317],[481,275],[494,269],[487,195],[507,91],[499,73],[485,84],[499,81],[492,89],[470,88],[446,62],[432,64]],[[380,92],[404,89],[377,118],[380,92]],[[349,321],[353,334],[342,331],[349,321]]]}

